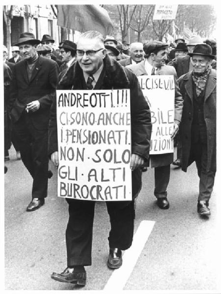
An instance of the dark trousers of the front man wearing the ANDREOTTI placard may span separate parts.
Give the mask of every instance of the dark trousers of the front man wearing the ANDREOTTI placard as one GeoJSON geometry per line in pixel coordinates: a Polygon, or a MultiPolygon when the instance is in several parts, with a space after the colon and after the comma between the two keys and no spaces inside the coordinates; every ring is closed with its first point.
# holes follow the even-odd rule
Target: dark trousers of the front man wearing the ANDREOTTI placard
{"type": "MultiPolygon", "coordinates": [[[[67,266],[90,266],[95,201],[66,200],[69,204],[67,266]]],[[[122,202],[106,202],[111,222],[108,240],[110,247],[126,250],[132,245],[134,235],[134,201],[126,206],[122,202]]]]}

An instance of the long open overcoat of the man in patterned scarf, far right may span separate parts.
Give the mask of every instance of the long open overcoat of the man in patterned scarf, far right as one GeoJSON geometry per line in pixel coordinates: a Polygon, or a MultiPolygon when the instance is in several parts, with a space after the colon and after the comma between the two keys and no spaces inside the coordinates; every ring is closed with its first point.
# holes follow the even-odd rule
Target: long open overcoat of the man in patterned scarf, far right
{"type": "MultiPolygon", "coordinates": [[[[187,171],[191,149],[191,127],[193,122],[193,72],[179,79],[181,94],[184,98],[181,120],[182,170],[187,171]]],[[[207,171],[216,171],[216,71],[211,70],[203,103],[204,120],[207,134],[207,171]]]]}

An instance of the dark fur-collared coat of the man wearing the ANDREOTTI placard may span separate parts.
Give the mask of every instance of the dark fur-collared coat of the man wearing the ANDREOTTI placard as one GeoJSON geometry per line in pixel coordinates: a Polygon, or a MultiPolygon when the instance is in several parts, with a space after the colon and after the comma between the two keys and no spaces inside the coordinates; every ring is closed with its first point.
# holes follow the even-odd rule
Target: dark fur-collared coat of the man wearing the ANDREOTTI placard
{"type": "MultiPolygon", "coordinates": [[[[138,154],[144,160],[149,159],[151,118],[149,106],[143,97],[138,79],[134,73],[123,68],[117,61],[106,55],[104,59],[104,76],[96,83],[95,90],[130,89],[131,98],[131,140],[132,153],[138,154]]],[[[62,76],[58,90],[82,90],[84,77],[83,71],[76,62],[62,76]]],[[[53,102],[49,123],[49,155],[58,150],[57,147],[57,124],[56,103],[53,102]]],[[[132,172],[132,196],[138,195],[141,189],[141,171],[136,169],[132,172]]]]}

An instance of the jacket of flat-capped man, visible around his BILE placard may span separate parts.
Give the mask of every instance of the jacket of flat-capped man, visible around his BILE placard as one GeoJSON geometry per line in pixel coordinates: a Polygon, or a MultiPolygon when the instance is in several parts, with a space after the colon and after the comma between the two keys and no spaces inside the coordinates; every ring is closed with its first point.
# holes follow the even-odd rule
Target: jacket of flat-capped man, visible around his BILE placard
{"type": "MultiPolygon", "coordinates": [[[[144,61],[141,61],[138,64],[129,65],[126,68],[130,69],[134,72],[137,76],[147,74],[145,71],[144,61]]],[[[159,75],[173,75],[174,76],[174,85],[175,85],[175,110],[174,110],[174,119],[177,121],[181,121],[182,117],[182,109],[183,109],[183,98],[180,94],[176,71],[172,66],[165,65],[162,66],[160,69],[157,70],[156,74],[159,75]]],[[[173,161],[173,153],[165,153],[165,154],[157,154],[157,155],[150,155],[151,160],[151,167],[160,167],[166,166],[172,163],[173,161]]]]}

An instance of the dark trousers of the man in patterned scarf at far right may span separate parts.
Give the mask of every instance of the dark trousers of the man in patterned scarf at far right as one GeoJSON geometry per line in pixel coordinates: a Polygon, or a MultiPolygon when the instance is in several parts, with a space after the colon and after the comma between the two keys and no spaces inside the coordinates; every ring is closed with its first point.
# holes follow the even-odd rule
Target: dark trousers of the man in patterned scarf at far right
{"type": "Polygon", "coordinates": [[[188,166],[195,161],[199,176],[199,196],[198,201],[209,201],[213,191],[215,171],[207,171],[207,144],[197,142],[191,145],[188,166]]]}

